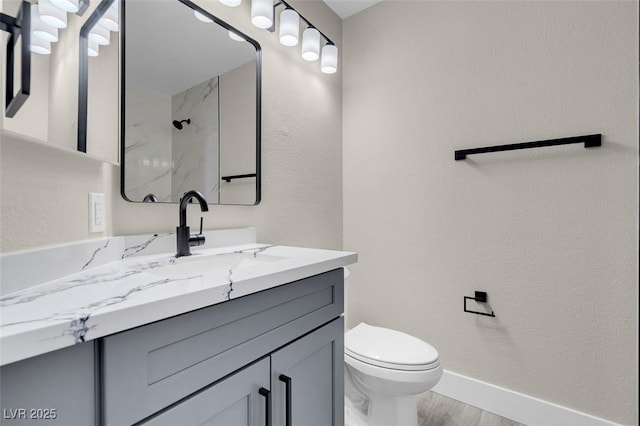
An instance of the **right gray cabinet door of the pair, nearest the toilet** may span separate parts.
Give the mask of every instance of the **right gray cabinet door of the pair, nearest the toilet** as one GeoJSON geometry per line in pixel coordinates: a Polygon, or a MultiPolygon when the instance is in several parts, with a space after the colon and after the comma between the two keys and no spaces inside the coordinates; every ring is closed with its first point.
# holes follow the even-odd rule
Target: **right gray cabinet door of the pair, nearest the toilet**
{"type": "Polygon", "coordinates": [[[273,424],[344,425],[344,320],[271,355],[273,424]]]}

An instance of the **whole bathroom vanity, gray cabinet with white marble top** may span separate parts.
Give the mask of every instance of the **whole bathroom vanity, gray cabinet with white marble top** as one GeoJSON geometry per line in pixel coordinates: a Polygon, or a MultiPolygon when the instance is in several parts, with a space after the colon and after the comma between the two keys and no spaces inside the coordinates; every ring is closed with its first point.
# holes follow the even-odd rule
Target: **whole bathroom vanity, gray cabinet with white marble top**
{"type": "Polygon", "coordinates": [[[342,425],[356,254],[234,235],[209,231],[232,245],[183,258],[161,252],[173,234],[3,256],[5,274],[65,249],[90,258],[0,297],[2,424],[342,425]]]}

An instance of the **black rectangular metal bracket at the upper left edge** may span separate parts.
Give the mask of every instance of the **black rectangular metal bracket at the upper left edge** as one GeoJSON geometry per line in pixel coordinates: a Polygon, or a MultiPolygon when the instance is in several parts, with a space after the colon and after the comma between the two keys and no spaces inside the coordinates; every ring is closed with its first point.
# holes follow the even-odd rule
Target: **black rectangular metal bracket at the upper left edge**
{"type": "Polygon", "coordinates": [[[15,18],[0,14],[0,29],[8,32],[5,81],[5,112],[6,117],[13,117],[24,104],[31,92],[31,3],[22,1],[20,10],[15,18]],[[13,89],[15,68],[15,47],[20,38],[20,89],[17,93],[13,89]]]}

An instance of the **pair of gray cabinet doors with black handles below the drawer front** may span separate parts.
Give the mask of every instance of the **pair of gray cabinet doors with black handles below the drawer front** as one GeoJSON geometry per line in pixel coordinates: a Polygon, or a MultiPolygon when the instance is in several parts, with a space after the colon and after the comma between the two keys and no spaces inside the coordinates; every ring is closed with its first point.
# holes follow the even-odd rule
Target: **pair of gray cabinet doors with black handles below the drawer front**
{"type": "Polygon", "coordinates": [[[141,425],[262,426],[271,414],[272,425],[342,426],[343,327],[338,318],[141,425]]]}

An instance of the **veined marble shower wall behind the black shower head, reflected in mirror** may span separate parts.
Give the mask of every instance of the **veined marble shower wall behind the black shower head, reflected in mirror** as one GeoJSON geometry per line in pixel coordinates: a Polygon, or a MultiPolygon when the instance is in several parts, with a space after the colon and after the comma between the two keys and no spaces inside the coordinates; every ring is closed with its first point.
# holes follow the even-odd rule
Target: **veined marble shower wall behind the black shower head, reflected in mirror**
{"type": "Polygon", "coordinates": [[[213,77],[171,98],[172,120],[191,120],[182,130],[173,129],[174,200],[192,189],[201,190],[210,203],[219,200],[218,94],[218,77],[213,77]]]}

